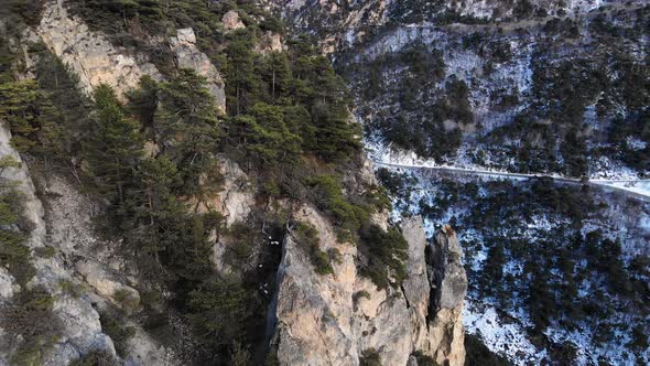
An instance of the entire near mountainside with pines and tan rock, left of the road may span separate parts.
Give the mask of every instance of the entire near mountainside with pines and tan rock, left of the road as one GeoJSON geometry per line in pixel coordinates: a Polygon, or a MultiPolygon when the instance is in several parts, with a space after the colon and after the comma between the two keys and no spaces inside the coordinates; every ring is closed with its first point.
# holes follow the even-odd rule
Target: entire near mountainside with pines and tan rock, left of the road
{"type": "Polygon", "coordinates": [[[250,1],[0,7],[0,364],[463,365],[455,230],[250,1]]]}

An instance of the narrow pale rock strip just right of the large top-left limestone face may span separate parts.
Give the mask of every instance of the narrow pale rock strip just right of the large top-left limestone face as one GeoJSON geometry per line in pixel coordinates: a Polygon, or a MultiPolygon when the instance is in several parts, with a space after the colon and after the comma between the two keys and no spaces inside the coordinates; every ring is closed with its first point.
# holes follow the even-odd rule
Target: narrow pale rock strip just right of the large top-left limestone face
{"type": "Polygon", "coordinates": [[[170,46],[176,55],[178,68],[192,68],[208,82],[208,90],[215,97],[217,107],[226,111],[226,89],[224,79],[209,57],[196,46],[196,35],[191,28],[176,31],[176,36],[170,39],[170,46]]]}

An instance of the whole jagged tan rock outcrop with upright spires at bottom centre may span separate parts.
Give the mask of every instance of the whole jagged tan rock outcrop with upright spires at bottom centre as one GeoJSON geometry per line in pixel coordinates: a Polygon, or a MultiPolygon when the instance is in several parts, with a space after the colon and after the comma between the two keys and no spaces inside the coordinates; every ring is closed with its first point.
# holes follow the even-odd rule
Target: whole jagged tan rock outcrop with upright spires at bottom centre
{"type": "Polygon", "coordinates": [[[445,248],[445,254],[459,250],[457,240],[441,241],[440,237],[426,249],[422,219],[404,219],[401,229],[409,244],[408,278],[401,289],[380,290],[360,277],[355,265],[356,247],[338,243],[326,218],[310,206],[303,206],[295,218],[313,225],[322,250],[338,250],[340,261],[333,263],[334,274],[316,274],[294,236],[290,234],[284,240],[273,341],[281,365],[358,365],[364,351],[370,348],[383,365],[407,365],[414,352],[440,364],[464,364],[464,291],[457,291],[463,286],[447,287],[465,280],[466,288],[465,272],[455,267],[459,257],[454,261],[455,257],[449,256],[436,262],[448,263],[448,269],[427,270],[432,263],[425,256],[440,252],[438,248],[445,248]],[[446,277],[442,278],[442,287],[432,287],[437,278],[430,276],[437,272],[446,277]],[[445,297],[445,305],[456,301],[452,309],[438,309],[441,289],[456,297],[445,297]]]}

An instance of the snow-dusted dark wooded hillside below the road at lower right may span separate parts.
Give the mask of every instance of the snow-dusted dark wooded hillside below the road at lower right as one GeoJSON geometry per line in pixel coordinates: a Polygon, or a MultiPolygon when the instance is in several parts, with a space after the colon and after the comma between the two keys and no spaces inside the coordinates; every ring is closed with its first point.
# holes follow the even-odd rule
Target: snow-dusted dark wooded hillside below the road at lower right
{"type": "Polygon", "coordinates": [[[380,169],[394,219],[451,222],[469,278],[464,323],[514,364],[647,364],[650,203],[544,179],[380,169]]]}

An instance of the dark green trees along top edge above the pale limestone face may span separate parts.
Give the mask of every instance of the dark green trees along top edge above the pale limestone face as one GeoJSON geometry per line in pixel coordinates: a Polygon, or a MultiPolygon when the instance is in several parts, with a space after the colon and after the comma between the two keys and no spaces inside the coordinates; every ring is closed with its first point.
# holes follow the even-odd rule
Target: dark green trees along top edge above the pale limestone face
{"type": "Polygon", "coordinates": [[[175,35],[177,29],[192,28],[202,51],[218,60],[227,36],[221,26],[227,11],[239,13],[247,26],[243,31],[251,36],[281,26],[273,14],[254,3],[241,1],[71,0],[68,7],[91,30],[107,34],[113,44],[147,52],[159,69],[169,75],[174,74],[173,55],[164,45],[152,44],[152,36],[175,35]],[[258,24],[261,19],[263,21],[258,24]]]}

